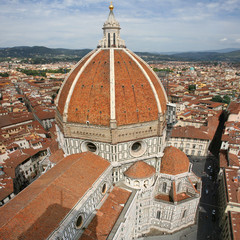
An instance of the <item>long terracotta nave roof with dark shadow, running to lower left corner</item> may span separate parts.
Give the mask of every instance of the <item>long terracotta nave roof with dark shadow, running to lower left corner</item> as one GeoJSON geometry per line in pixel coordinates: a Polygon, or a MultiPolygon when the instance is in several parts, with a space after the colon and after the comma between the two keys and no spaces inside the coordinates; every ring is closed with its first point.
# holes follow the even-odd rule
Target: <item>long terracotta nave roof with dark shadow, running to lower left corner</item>
{"type": "Polygon", "coordinates": [[[109,165],[90,152],[64,158],[0,208],[1,239],[46,239],[109,165]]]}

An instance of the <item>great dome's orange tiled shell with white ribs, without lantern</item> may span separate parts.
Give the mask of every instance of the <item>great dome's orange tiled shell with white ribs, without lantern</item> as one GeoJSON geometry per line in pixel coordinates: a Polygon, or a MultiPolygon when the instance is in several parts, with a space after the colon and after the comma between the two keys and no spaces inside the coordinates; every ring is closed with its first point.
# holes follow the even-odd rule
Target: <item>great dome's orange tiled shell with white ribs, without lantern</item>
{"type": "Polygon", "coordinates": [[[158,120],[166,93],[151,68],[125,48],[99,48],[64,81],[57,100],[63,122],[117,126],[158,120]]]}

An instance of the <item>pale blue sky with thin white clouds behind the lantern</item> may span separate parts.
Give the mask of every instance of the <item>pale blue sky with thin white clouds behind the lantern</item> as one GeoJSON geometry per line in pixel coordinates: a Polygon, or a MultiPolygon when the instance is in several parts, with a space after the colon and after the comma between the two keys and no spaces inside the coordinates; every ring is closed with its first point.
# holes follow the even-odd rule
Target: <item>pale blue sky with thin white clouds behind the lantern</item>
{"type": "MultiPolygon", "coordinates": [[[[96,48],[110,1],[0,0],[0,47],[96,48]]],[[[240,48],[240,0],[116,0],[132,51],[240,48]]]]}

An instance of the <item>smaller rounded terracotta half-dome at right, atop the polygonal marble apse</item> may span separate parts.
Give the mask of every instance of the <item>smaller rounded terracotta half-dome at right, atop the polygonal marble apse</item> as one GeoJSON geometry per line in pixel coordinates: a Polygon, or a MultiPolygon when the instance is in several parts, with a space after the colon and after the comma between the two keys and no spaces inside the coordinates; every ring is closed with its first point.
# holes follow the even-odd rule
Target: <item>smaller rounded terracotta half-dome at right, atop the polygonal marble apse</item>
{"type": "Polygon", "coordinates": [[[188,172],[189,159],[187,155],[175,147],[166,147],[161,162],[160,173],[177,175],[188,172]]]}

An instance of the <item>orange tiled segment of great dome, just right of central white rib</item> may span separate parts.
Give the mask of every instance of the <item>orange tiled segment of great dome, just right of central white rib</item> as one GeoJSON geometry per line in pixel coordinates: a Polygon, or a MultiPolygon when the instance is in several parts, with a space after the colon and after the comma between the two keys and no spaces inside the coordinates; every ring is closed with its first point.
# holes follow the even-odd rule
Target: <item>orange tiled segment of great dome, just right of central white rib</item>
{"type": "Polygon", "coordinates": [[[148,80],[124,52],[115,51],[116,119],[127,125],[158,119],[156,100],[148,80]]]}

